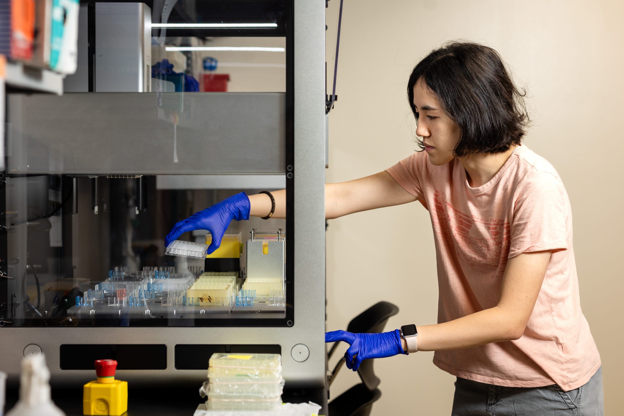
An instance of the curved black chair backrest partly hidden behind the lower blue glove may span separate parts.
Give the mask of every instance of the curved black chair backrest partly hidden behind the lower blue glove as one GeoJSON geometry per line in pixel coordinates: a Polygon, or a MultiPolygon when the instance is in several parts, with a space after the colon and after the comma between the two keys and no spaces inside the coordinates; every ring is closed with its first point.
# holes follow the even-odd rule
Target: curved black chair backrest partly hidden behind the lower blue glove
{"type": "MultiPolygon", "coordinates": [[[[399,313],[399,307],[390,302],[378,302],[351,319],[347,331],[368,332],[369,334],[383,332],[389,317],[399,313]]],[[[364,360],[359,366],[358,375],[369,391],[379,385],[379,379],[373,370],[374,360],[364,360]]]]}

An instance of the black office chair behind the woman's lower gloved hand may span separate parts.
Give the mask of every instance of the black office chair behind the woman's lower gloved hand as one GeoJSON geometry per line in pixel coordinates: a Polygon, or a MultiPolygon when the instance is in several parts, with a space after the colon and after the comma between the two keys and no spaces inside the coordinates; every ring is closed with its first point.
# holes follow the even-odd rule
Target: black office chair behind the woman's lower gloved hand
{"type": "MultiPolygon", "coordinates": [[[[383,332],[389,317],[399,313],[399,308],[390,302],[379,302],[366,309],[358,316],[351,319],[347,331],[349,332],[383,332]]],[[[328,352],[328,359],[332,356],[339,342],[334,342],[328,352]]],[[[329,379],[329,385],[336,378],[336,375],[344,365],[344,357],[342,357],[329,379]]],[[[373,409],[373,403],[379,400],[381,392],[377,388],[379,378],[373,370],[372,359],[364,360],[359,366],[358,375],[362,380],[360,384],[356,384],[351,389],[331,400],[328,405],[328,416],[368,416],[373,409]]]]}

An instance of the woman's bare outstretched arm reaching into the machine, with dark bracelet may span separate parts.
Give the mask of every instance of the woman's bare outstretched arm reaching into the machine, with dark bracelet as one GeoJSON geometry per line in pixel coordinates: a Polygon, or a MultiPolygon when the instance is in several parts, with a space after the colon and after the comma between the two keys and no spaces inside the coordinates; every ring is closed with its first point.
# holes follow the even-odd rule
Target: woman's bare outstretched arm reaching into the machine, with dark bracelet
{"type": "MultiPolygon", "coordinates": [[[[271,218],[286,217],[286,190],[271,192],[275,213],[271,218]]],[[[365,178],[325,185],[325,218],[338,218],[359,211],[416,201],[386,171],[365,178]]],[[[249,195],[250,215],[266,216],[271,211],[271,198],[265,193],[249,195]]]]}

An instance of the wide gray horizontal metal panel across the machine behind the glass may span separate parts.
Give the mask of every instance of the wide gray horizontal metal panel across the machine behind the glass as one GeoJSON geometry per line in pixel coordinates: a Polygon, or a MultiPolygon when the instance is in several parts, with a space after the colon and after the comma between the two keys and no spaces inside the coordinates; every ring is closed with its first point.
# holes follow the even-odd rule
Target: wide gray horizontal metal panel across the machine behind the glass
{"type": "Polygon", "coordinates": [[[20,109],[6,120],[20,132],[11,173],[286,175],[284,93],[9,94],[7,105],[20,109]]]}

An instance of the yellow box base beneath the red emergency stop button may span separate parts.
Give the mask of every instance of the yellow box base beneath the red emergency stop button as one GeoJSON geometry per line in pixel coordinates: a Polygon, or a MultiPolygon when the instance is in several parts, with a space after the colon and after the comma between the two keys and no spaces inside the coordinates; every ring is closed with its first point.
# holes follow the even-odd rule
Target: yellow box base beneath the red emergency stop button
{"type": "MultiPolygon", "coordinates": [[[[100,377],[98,377],[100,379],[100,377]]],[[[84,385],[82,414],[120,416],[128,410],[128,382],[90,381],[84,385]]]]}

